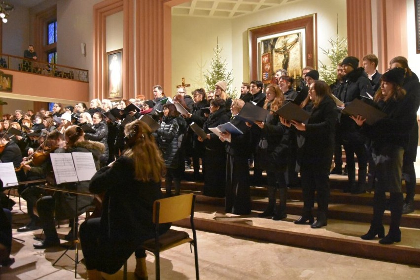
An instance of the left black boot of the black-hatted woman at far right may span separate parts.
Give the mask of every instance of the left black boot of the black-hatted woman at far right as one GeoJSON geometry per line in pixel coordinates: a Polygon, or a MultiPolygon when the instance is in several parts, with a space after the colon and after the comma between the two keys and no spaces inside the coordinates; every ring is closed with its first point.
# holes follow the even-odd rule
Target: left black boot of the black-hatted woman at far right
{"type": "Polygon", "coordinates": [[[376,191],[373,196],[373,219],[370,223],[369,231],[360,238],[363,240],[372,240],[377,235],[379,238],[384,238],[385,229],[382,224],[382,217],[385,212],[385,192],[376,191]]]}

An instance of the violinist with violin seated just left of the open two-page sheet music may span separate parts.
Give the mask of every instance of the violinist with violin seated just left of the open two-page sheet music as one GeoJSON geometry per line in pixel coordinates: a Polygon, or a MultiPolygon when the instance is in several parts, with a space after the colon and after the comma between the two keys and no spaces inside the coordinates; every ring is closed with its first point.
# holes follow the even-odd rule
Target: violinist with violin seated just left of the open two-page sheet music
{"type": "MultiPolygon", "coordinates": [[[[35,150],[32,156],[24,158],[24,161],[21,164],[21,167],[27,176],[26,180],[28,181],[45,179],[48,174],[52,173],[53,169],[49,153],[58,148],[62,148],[66,144],[63,135],[57,130],[50,133],[46,140],[45,138],[45,134],[39,135],[38,141],[41,145],[40,149],[35,150]]],[[[32,231],[40,228],[39,218],[34,213],[34,207],[36,201],[44,193],[44,190],[36,186],[36,183],[32,183],[21,185],[18,188],[19,194],[27,202],[28,215],[31,218],[27,225],[17,229],[18,232],[32,231]]]]}

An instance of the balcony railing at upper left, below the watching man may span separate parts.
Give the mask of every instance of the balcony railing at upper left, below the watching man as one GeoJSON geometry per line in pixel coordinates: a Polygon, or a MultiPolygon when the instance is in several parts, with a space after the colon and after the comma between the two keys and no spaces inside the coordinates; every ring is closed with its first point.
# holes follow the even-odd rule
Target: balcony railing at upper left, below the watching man
{"type": "Polygon", "coordinates": [[[60,64],[38,62],[19,56],[2,54],[0,58],[0,69],[23,71],[33,74],[46,75],[56,78],[65,78],[81,82],[89,82],[89,71],[73,68],[60,64]]]}

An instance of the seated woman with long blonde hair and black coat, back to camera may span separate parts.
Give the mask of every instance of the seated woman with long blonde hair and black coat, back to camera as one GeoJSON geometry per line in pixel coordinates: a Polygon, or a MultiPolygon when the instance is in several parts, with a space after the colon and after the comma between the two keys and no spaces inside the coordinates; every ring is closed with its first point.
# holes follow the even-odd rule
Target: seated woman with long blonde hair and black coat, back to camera
{"type": "MultiPolygon", "coordinates": [[[[91,180],[92,193],[105,192],[101,218],[80,226],[80,242],[88,277],[114,274],[135,251],[137,278],[146,279],[146,253],[138,247],[154,237],[153,202],[162,198],[163,162],[150,127],[140,120],[125,127],[127,149],[91,180]],[[147,164],[144,164],[147,162],[147,164]]],[[[159,227],[161,234],[170,224],[159,227]]]]}

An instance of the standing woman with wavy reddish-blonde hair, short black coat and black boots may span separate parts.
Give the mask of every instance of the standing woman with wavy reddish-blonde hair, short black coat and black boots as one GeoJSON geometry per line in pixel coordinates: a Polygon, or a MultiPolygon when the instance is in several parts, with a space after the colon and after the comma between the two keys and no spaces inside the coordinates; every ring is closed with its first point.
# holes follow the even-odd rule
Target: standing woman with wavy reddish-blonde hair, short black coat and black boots
{"type": "Polygon", "coordinates": [[[284,95],[278,85],[269,84],[263,108],[270,110],[264,122],[255,122],[261,128],[261,136],[255,157],[256,167],[267,171],[267,209],[259,217],[272,216],[273,220],[287,217],[287,188],[284,172],[288,162],[288,129],[280,123],[277,111],[284,103],[284,95]],[[276,191],[280,191],[280,207],[276,210],[276,191]]]}

